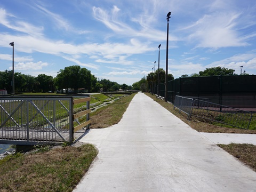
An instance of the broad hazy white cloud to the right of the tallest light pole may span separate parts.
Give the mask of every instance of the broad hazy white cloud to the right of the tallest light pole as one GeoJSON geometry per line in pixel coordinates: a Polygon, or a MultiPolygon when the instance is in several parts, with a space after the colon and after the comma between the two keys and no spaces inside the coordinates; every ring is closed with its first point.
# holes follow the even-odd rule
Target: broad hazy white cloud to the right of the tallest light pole
{"type": "Polygon", "coordinates": [[[235,30],[236,20],[240,14],[237,13],[218,13],[213,15],[204,15],[187,29],[193,29],[189,35],[190,41],[198,41],[197,47],[209,47],[218,49],[229,46],[249,45],[239,36],[235,30]]]}

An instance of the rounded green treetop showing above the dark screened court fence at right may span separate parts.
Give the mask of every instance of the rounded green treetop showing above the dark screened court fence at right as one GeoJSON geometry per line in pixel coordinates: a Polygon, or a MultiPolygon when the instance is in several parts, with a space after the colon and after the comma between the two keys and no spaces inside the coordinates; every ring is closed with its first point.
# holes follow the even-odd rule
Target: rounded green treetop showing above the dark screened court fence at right
{"type": "Polygon", "coordinates": [[[204,71],[199,71],[199,76],[236,75],[234,72],[234,69],[212,67],[206,68],[204,71]]]}

